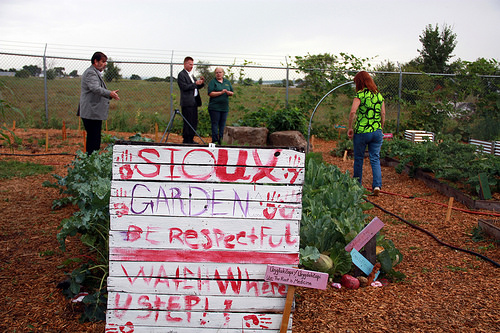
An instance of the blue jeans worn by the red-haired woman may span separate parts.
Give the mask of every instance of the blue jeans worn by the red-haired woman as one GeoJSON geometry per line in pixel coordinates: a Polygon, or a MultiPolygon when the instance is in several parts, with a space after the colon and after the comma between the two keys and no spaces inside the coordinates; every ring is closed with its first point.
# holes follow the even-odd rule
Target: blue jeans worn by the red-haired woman
{"type": "Polygon", "coordinates": [[[370,154],[370,164],[372,166],[372,188],[382,188],[382,169],[380,168],[380,147],[384,134],[382,130],[371,133],[354,134],[354,177],[358,178],[359,183],[363,179],[363,160],[365,158],[366,146],[370,154]]]}

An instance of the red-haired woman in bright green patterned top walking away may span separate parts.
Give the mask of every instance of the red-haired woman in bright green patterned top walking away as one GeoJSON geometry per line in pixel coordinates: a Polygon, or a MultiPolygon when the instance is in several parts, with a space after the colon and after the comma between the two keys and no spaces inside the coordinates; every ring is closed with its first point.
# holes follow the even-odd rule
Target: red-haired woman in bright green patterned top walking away
{"type": "Polygon", "coordinates": [[[361,71],[354,77],[356,97],[349,113],[349,129],[347,136],[353,139],[354,145],[354,177],[361,184],[363,177],[363,160],[366,146],[370,154],[372,166],[373,194],[378,195],[382,188],[382,170],[380,168],[380,148],[384,134],[385,122],[384,97],[378,91],[370,74],[361,71]],[[354,127],[353,127],[354,124],[354,127]]]}

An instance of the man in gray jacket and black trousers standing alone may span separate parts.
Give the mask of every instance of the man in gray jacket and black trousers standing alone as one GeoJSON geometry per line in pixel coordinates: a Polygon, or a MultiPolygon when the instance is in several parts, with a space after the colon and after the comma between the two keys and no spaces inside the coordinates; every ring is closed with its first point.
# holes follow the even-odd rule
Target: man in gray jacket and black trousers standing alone
{"type": "Polygon", "coordinates": [[[109,101],[119,100],[118,90],[108,90],[101,72],[106,68],[108,57],[96,52],[90,59],[92,66],[82,75],[82,92],[78,105],[78,116],[87,131],[87,154],[101,148],[102,121],[108,119],[109,101]]]}

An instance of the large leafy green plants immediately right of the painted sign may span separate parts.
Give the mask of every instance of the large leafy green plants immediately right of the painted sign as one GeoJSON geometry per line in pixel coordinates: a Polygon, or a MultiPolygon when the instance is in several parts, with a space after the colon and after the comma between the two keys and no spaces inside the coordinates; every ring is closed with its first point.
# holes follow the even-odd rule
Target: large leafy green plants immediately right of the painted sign
{"type": "MultiPolygon", "coordinates": [[[[345,274],[351,270],[352,262],[344,248],[366,225],[367,215],[363,211],[372,205],[366,203],[365,190],[349,173],[309,156],[306,166],[300,262],[309,269],[326,271],[330,276],[345,274]],[[331,260],[328,269],[318,265],[318,259],[325,254],[331,260]]],[[[401,261],[401,253],[382,235],[378,236],[378,242],[386,252],[380,257],[382,270],[396,275],[393,266],[401,261]]]]}

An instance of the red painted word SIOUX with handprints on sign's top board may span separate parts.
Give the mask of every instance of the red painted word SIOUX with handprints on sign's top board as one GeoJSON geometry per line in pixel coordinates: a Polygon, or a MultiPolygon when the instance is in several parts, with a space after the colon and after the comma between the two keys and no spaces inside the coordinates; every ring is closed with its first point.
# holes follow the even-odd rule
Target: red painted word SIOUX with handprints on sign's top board
{"type": "MultiPolygon", "coordinates": [[[[214,176],[222,181],[222,182],[235,182],[235,181],[249,181],[250,183],[256,183],[262,179],[267,179],[271,182],[279,182],[281,179],[272,174],[275,168],[279,168],[277,166],[278,157],[280,150],[276,150],[276,153],[269,158],[268,161],[263,162],[257,151],[254,151],[252,154],[253,162],[249,163],[247,160],[248,151],[241,150],[239,152],[236,165],[237,167],[227,167],[228,165],[228,151],[226,149],[219,149],[217,157],[207,149],[193,149],[185,153],[182,158],[177,161],[175,159],[175,153],[179,151],[179,149],[166,148],[167,151],[170,151],[170,162],[171,164],[159,164],[155,163],[153,160],[160,158],[160,152],[154,148],[145,148],[139,150],[137,153],[137,158],[141,161],[140,164],[124,164],[120,166],[120,178],[121,179],[131,179],[133,174],[137,172],[139,175],[145,178],[157,178],[160,175],[160,171],[162,168],[167,169],[166,178],[171,180],[184,178],[184,179],[192,179],[192,180],[207,180],[210,177],[214,176]],[[210,167],[209,169],[197,168],[199,174],[193,173],[194,170],[188,171],[185,167],[185,164],[188,160],[192,158],[192,155],[196,155],[197,159],[200,160],[209,160],[210,167]],[[205,158],[203,158],[205,155],[205,158]],[[213,165],[211,165],[213,163],[213,165]],[[176,167],[176,165],[181,165],[180,167],[176,167]],[[255,165],[257,168],[257,172],[252,175],[247,174],[247,165],[255,165]],[[229,172],[228,169],[234,169],[234,171],[229,172]]],[[[132,156],[128,154],[124,154],[124,156],[116,159],[117,162],[129,162],[132,159],[132,156]]],[[[281,169],[281,168],[280,168],[281,169]]],[[[288,171],[287,178],[290,176],[290,184],[294,184],[299,176],[300,168],[296,167],[288,167],[286,168],[288,171]]]]}

